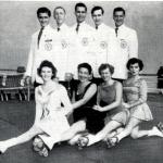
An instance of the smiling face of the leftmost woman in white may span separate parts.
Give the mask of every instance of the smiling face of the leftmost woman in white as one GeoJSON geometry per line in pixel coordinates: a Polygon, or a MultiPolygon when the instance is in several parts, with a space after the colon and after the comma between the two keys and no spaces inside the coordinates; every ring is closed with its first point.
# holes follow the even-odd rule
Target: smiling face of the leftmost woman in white
{"type": "Polygon", "coordinates": [[[52,70],[48,66],[43,66],[41,68],[41,73],[40,73],[43,82],[48,82],[48,80],[51,80],[51,77],[52,77],[52,70]]]}

